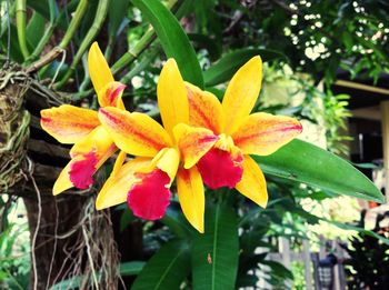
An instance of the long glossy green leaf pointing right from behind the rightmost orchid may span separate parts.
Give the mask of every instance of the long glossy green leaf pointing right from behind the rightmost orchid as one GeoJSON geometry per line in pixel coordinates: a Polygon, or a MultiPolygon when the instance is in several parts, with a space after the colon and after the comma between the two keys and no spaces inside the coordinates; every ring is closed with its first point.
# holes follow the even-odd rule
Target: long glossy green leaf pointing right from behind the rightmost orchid
{"type": "Polygon", "coordinates": [[[362,172],[311,143],[293,140],[271,156],[253,158],[268,174],[345,196],[385,202],[382,193],[362,172]]]}

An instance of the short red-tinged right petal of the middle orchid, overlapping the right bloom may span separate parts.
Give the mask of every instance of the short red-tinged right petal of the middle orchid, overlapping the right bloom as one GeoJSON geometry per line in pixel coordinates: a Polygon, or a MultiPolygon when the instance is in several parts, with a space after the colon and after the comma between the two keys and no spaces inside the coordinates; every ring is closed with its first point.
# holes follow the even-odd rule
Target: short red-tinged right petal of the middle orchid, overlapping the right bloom
{"type": "Polygon", "coordinates": [[[211,130],[184,123],[177,124],[173,133],[186,169],[194,166],[218,141],[218,137],[211,130]]]}

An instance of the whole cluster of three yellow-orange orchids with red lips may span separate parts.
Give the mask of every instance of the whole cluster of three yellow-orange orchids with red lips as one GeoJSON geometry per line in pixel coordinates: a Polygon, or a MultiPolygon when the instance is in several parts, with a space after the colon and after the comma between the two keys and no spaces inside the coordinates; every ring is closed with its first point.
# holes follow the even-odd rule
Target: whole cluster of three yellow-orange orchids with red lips
{"type": "Polygon", "coordinates": [[[237,71],[221,103],[184,82],[176,61],[169,59],[157,87],[163,127],[144,113],[124,109],[126,86],[114,81],[97,43],[89,51],[88,66],[98,112],[69,104],[41,111],[41,127],[59,142],[73,143],[53,194],[71,187],[89,188],[97,170],[120,150],[97,209],[127,201],[134,216],[160,219],[174,179],[182,212],[199,232],[203,232],[203,183],[210,189],[236,188],[266,207],[266,180],[250,154],[275,152],[302,127],[289,117],[250,114],[261,87],[260,57],[237,71]]]}

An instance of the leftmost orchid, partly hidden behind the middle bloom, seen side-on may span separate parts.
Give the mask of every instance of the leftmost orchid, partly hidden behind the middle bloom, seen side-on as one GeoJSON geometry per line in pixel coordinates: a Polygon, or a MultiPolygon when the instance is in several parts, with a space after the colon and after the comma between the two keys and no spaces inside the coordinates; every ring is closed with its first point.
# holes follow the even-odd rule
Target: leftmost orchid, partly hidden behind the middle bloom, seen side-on
{"type": "MultiPolygon", "coordinates": [[[[97,42],[89,50],[88,67],[100,107],[124,109],[121,97],[126,86],[113,80],[97,42]]],[[[97,111],[90,109],[70,104],[46,109],[41,111],[40,123],[59,142],[74,144],[70,150],[70,162],[53,186],[54,196],[72,187],[89,188],[94,172],[118,149],[101,126],[97,111]]]]}

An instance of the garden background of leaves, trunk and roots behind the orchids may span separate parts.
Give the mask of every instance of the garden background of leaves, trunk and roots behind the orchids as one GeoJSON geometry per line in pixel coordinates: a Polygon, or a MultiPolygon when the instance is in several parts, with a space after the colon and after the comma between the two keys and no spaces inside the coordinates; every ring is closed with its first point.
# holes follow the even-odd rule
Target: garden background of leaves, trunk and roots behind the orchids
{"type": "Polygon", "coordinates": [[[350,289],[388,288],[388,11],[383,0],[1,0],[0,288],[306,289],[303,264],[288,269],[270,253],[282,240],[293,251],[309,240],[315,252],[337,238],[348,249],[339,262],[350,289]],[[239,67],[260,54],[255,111],[305,128],[302,141],[256,159],[268,207],[207,191],[205,234],[176,197],[156,222],[126,204],[97,211],[112,162],[90,190],[53,197],[69,147],[42,131],[39,112],[98,108],[87,69],[93,41],[127,86],[126,108],[157,120],[167,58],[222,98],[239,67]]]}

